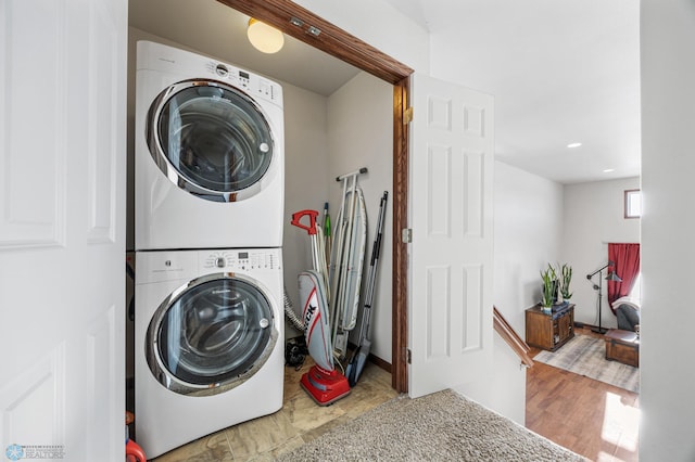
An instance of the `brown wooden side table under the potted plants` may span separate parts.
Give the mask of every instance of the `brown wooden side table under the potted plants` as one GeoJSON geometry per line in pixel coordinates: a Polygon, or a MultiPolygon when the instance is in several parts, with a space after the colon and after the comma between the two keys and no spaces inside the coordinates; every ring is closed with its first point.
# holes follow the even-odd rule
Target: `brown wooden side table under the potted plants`
{"type": "Polygon", "coordinates": [[[555,351],[574,336],[574,305],[546,315],[540,305],[526,310],[526,343],[555,351]]]}

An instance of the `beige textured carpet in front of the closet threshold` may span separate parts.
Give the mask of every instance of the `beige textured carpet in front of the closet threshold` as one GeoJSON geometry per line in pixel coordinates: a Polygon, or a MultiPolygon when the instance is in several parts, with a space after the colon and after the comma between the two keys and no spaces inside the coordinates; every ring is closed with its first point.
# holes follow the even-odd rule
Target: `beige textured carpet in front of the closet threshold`
{"type": "Polygon", "coordinates": [[[280,461],[500,461],[585,459],[447,389],[400,396],[281,455],[280,461]]]}

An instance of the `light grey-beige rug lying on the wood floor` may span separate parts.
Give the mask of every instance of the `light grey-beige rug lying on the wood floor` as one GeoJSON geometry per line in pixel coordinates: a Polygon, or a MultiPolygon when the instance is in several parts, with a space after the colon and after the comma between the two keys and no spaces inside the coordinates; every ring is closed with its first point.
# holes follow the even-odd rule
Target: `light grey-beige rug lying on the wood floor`
{"type": "Polygon", "coordinates": [[[557,351],[541,351],[533,360],[640,393],[640,369],[607,360],[603,338],[577,335],[557,351]]]}

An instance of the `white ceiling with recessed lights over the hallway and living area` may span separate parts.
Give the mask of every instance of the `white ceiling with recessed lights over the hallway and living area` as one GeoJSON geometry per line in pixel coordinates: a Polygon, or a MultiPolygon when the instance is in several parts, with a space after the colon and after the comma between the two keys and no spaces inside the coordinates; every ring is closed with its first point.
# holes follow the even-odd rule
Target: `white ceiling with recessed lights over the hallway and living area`
{"type": "Polygon", "coordinates": [[[498,159],[561,183],[640,175],[640,2],[386,1],[430,31],[432,75],[495,97],[498,159]]]}

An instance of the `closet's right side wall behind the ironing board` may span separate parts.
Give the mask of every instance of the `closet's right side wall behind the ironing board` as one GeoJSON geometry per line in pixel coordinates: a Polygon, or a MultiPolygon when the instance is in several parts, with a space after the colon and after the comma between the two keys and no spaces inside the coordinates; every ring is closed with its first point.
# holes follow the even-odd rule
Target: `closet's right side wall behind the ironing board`
{"type": "MultiPolygon", "coordinates": [[[[393,87],[366,73],[359,73],[328,99],[328,172],[330,210],[333,228],[341,203],[341,175],[367,167],[358,177],[367,208],[367,247],[363,284],[369,271],[369,258],[375,238],[379,201],[389,192],[381,253],[376,280],[371,317],[371,352],[391,362],[392,326],[392,183],[393,183],[393,87]]],[[[364,291],[363,291],[364,292],[364,291]]],[[[362,306],[362,304],[361,304],[362,306]]],[[[358,339],[361,319],[351,335],[358,339]]]]}

